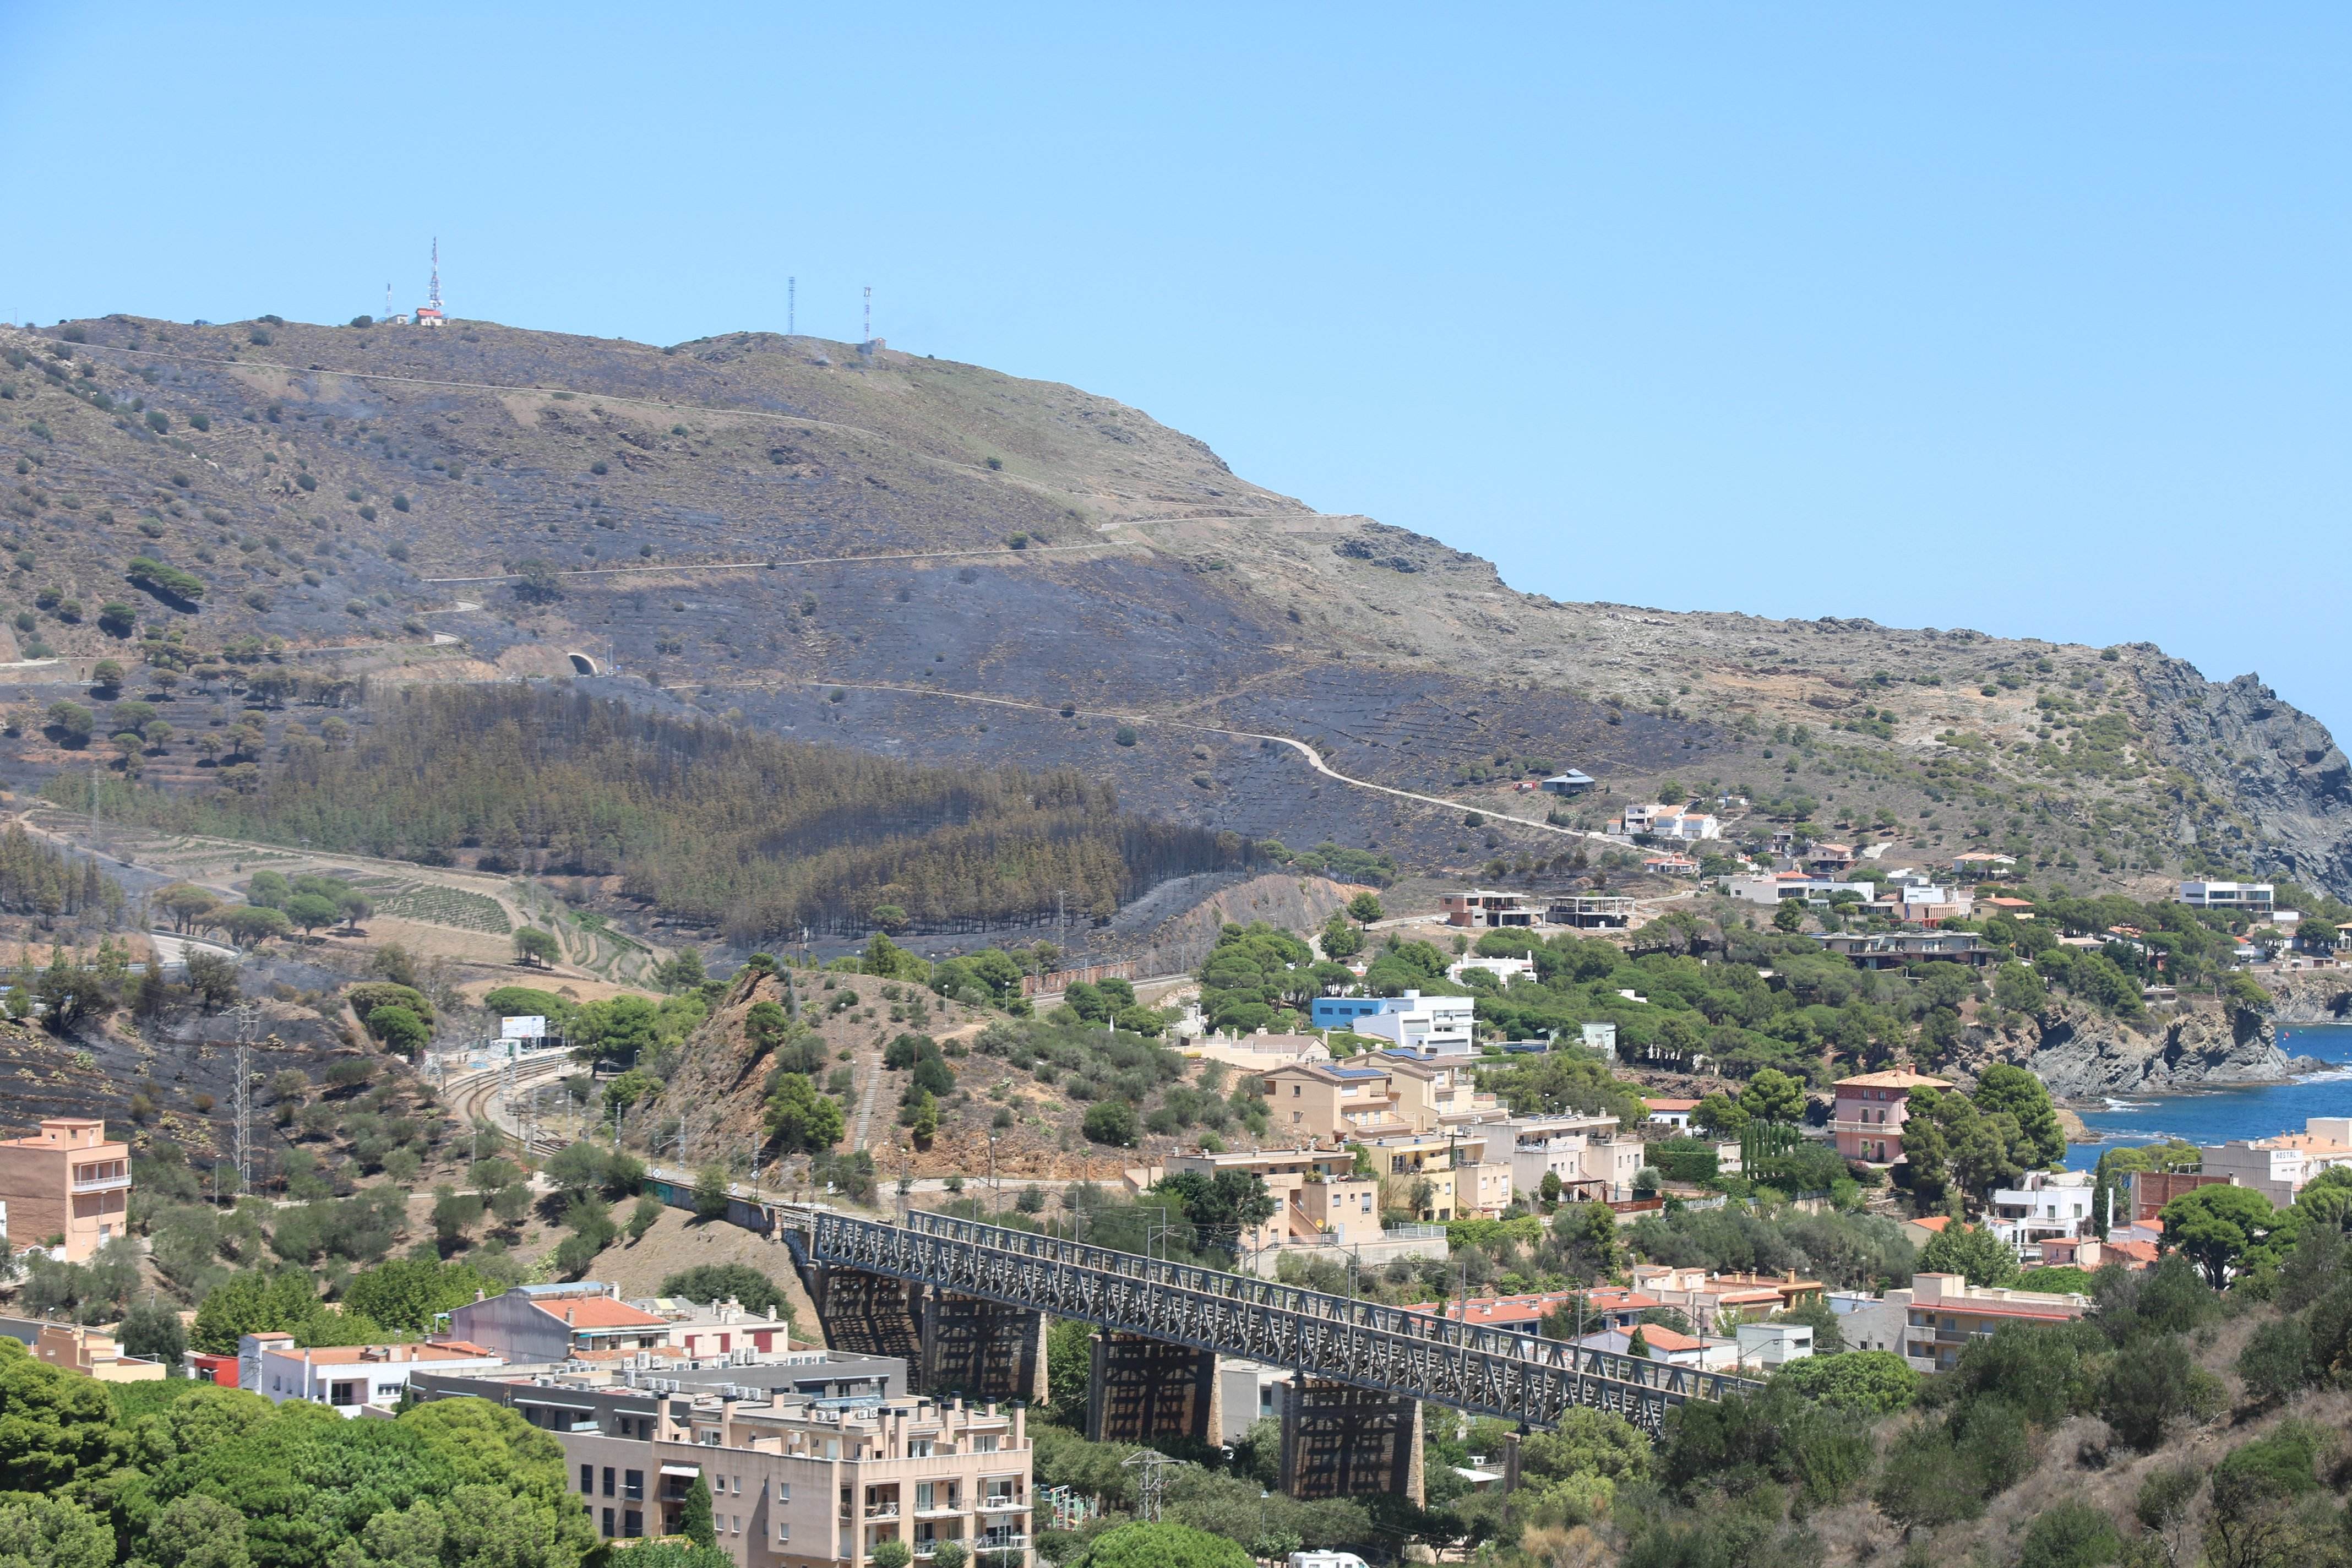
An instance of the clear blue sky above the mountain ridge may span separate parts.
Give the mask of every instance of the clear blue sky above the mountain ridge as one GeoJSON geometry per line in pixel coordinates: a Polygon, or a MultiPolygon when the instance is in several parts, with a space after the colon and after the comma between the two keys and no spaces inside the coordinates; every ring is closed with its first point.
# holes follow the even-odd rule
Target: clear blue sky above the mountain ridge
{"type": "Polygon", "coordinates": [[[0,313],[343,320],[435,233],[562,331],[873,284],[1519,588],[2352,724],[2345,7],[496,9],[0,0],[0,313]]]}

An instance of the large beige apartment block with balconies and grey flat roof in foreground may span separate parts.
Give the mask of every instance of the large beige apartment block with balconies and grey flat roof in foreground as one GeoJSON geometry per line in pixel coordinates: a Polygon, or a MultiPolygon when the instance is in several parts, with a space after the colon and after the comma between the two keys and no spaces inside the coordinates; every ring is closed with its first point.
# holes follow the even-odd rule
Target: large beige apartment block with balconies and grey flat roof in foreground
{"type": "Polygon", "coordinates": [[[943,1542],[1030,1561],[1021,1406],[814,1399],[626,1368],[435,1375],[419,1394],[492,1399],[555,1436],[609,1540],[675,1533],[699,1479],[717,1544],[739,1568],[863,1568],[884,1542],[903,1542],[917,1561],[943,1542]]]}

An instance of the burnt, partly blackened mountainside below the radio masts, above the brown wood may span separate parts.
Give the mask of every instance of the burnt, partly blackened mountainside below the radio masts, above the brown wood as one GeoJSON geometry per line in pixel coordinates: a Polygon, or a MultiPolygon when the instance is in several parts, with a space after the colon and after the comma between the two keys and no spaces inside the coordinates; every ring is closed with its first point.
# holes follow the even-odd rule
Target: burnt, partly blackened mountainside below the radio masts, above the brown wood
{"type": "MultiPolygon", "coordinates": [[[[278,637],[285,668],[343,679],[593,672],[642,705],[1070,766],[1145,816],[1414,870],[1566,844],[1256,736],[1465,806],[1531,813],[1515,778],[1581,766],[1613,792],[1592,823],[1675,778],[1903,853],[2023,851],[2072,886],[2244,867],[2352,893],[2345,757],[2253,677],[2145,644],[1522,595],[1073,388],[816,339],[489,322],[106,317],[0,348],[0,654],[47,646],[64,672],[151,632],[181,661],[278,637]]],[[[45,703],[59,672],[7,675],[45,703]]]]}

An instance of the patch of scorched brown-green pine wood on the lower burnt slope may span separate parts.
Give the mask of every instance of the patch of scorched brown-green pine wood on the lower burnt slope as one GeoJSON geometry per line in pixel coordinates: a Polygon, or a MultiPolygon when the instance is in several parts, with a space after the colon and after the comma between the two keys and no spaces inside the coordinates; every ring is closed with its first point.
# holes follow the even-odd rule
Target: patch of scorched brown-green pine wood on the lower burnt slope
{"type": "Polygon", "coordinates": [[[1120,811],[1075,771],[924,769],[633,712],[560,689],[409,691],[348,752],[301,748],[249,792],[106,788],[108,813],[176,832],[612,877],[656,912],[757,943],[1056,912],[1108,919],[1167,877],[1240,867],[1235,835],[1120,811]]]}

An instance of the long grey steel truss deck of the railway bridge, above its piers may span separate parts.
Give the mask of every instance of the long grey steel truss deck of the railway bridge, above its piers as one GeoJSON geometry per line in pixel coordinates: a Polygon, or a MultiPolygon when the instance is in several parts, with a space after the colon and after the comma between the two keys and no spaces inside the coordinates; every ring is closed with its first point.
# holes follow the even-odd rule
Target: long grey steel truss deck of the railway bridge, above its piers
{"type": "Polygon", "coordinates": [[[1656,1434],[1691,1399],[1759,1382],[1479,1324],[915,1211],[906,1225],[802,1211],[811,1262],[1117,1333],[1287,1366],[1308,1378],[1555,1427],[1583,1406],[1656,1434]]]}

